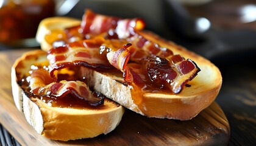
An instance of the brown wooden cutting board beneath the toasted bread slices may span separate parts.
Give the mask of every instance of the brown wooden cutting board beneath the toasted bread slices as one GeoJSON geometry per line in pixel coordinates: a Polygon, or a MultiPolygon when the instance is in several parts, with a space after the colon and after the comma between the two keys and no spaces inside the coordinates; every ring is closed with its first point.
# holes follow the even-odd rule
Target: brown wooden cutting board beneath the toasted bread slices
{"type": "Polygon", "coordinates": [[[217,103],[191,120],[148,118],[128,109],[107,135],[77,141],[51,141],[30,127],[12,99],[10,69],[27,49],[0,52],[0,123],[21,145],[227,145],[229,122],[217,103]]]}

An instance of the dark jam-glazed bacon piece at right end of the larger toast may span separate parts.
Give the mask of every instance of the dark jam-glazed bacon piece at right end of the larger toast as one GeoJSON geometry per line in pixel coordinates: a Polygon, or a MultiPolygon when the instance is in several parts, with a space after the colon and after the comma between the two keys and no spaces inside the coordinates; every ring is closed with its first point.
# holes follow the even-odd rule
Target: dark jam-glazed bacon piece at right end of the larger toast
{"type": "Polygon", "coordinates": [[[155,86],[171,89],[175,94],[182,91],[183,86],[200,71],[191,60],[171,64],[165,58],[151,57],[148,61],[142,60],[141,63],[146,63],[148,76],[155,86]]]}

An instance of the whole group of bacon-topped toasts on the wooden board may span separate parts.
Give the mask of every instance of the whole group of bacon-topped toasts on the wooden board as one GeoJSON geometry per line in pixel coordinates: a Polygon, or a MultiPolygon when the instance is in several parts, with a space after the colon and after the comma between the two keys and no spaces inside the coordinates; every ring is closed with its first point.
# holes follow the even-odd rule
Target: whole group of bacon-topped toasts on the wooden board
{"type": "Polygon", "coordinates": [[[49,139],[68,141],[109,133],[124,107],[147,117],[190,120],[222,84],[205,58],[144,30],[143,19],[87,10],[82,20],[46,18],[41,49],[12,68],[16,106],[49,139]]]}

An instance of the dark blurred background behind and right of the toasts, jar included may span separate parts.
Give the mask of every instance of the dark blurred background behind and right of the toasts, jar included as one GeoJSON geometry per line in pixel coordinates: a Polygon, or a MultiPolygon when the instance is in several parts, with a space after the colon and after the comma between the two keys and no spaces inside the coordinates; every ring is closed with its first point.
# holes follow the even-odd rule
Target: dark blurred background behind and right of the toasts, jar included
{"type": "Polygon", "coordinates": [[[0,0],[0,50],[39,47],[49,16],[82,18],[85,9],[141,17],[146,29],[208,58],[222,72],[216,102],[230,122],[229,145],[256,145],[255,0],[0,0]]]}

